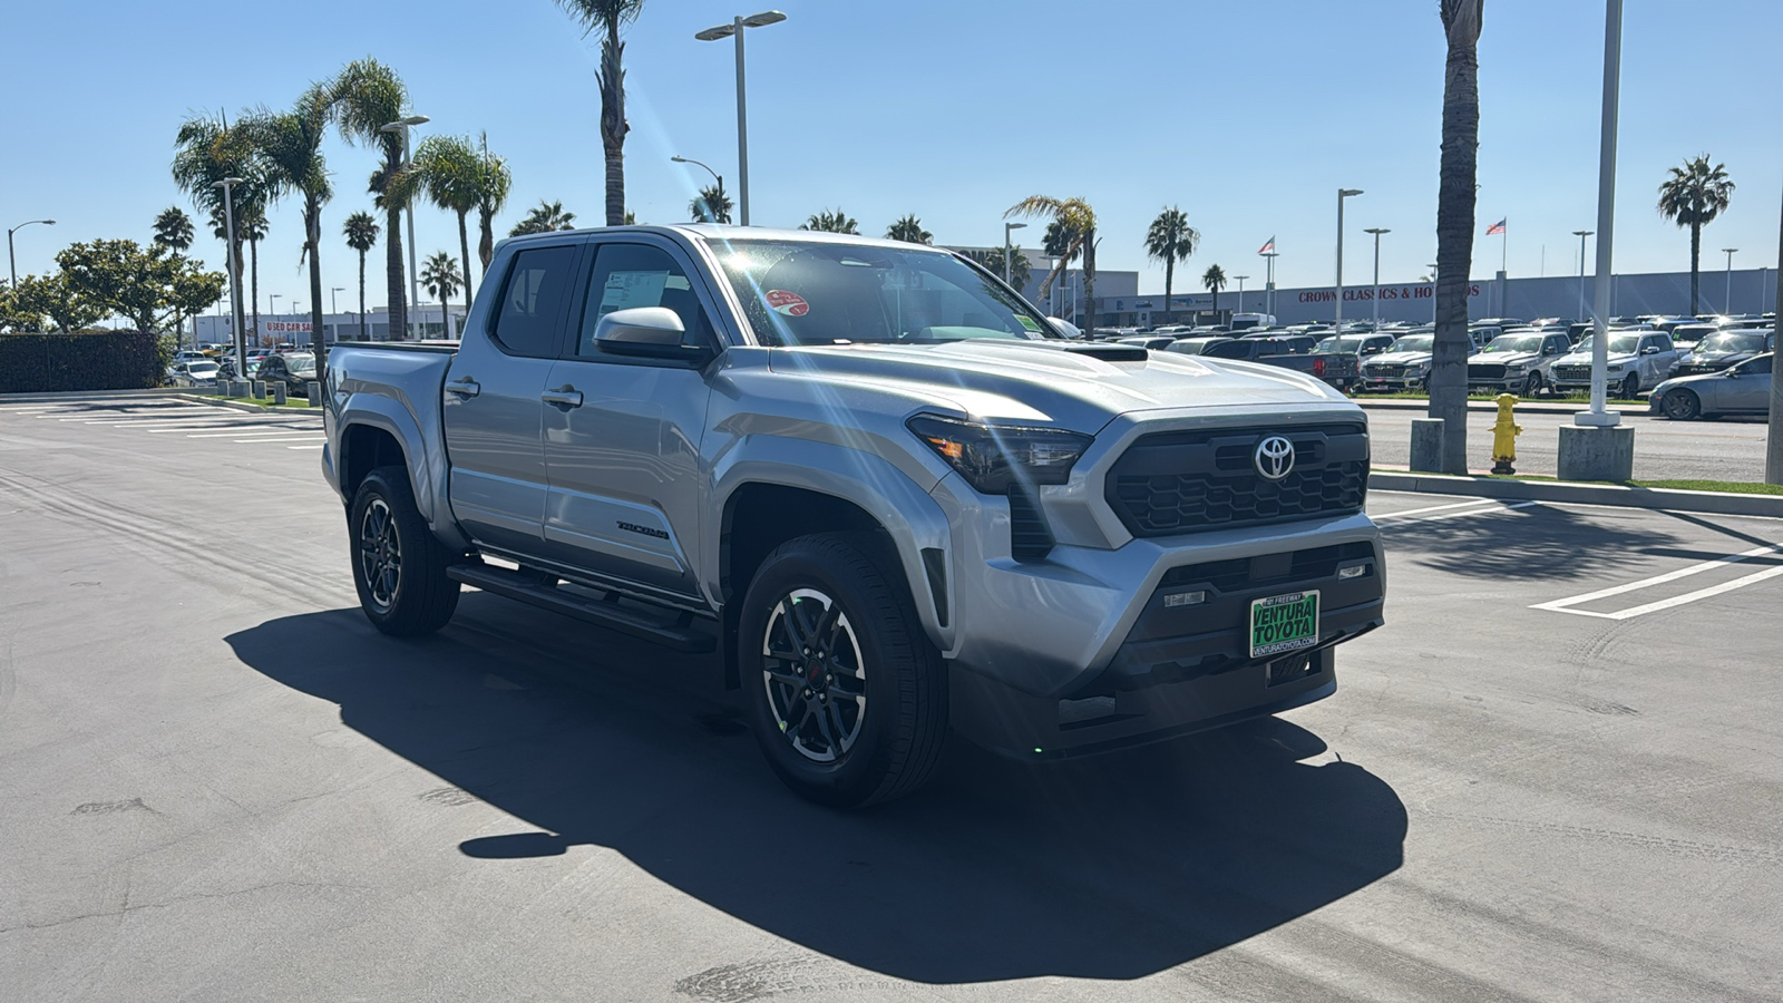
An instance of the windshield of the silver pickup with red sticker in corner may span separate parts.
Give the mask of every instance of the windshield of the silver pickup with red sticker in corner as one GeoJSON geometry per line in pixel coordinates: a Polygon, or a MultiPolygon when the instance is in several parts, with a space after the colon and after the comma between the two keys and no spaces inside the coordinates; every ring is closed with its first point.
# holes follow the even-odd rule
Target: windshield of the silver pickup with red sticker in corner
{"type": "Polygon", "coordinates": [[[818,241],[715,250],[763,344],[1052,337],[1020,296],[949,253],[818,241]]]}

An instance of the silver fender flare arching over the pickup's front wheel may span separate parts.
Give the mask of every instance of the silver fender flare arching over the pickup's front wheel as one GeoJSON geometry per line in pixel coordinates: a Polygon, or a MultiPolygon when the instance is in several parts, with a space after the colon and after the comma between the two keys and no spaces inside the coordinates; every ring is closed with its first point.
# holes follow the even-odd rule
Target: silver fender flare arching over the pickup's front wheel
{"type": "MultiPolygon", "coordinates": [[[[922,551],[929,548],[950,559],[947,514],[909,475],[884,457],[833,443],[747,435],[715,464],[711,503],[706,510],[726,510],[731,496],[749,484],[829,494],[858,505],[877,519],[897,544],[899,562],[929,641],[943,651],[954,646],[956,618],[949,614],[947,626],[941,626],[941,618],[936,614],[936,609],[947,609],[950,600],[945,593],[950,589],[943,585],[943,596],[936,596],[922,562],[922,551]]],[[[701,580],[715,605],[724,596],[719,582],[719,535],[703,534],[699,555],[701,580]]],[[[941,562],[941,568],[950,566],[950,560],[941,562]]]]}

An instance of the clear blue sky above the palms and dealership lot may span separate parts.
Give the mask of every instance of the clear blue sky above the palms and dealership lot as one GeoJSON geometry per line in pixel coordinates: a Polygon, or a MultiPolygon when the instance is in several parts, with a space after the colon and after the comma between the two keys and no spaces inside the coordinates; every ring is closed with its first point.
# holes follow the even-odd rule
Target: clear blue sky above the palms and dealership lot
{"type": "MultiPolygon", "coordinates": [[[[628,202],[644,221],[685,220],[706,180],[672,153],[735,184],[731,46],[692,36],[756,9],[736,4],[649,0],[628,34],[628,202]]],[[[1366,195],[1350,200],[1346,280],[1366,280],[1371,266],[1364,227],[1393,228],[1384,280],[1412,280],[1435,250],[1435,7],[779,0],[788,21],[749,36],[754,221],[790,227],[840,205],[881,234],[916,212],[938,243],[991,245],[1018,198],[1082,195],[1102,218],[1098,264],[1143,269],[1150,293],[1163,269],[1145,261],[1145,227],[1180,205],[1204,243],[1179,268],[1179,289],[1184,271],[1212,262],[1261,286],[1255,250],[1271,234],[1278,284],[1314,286],[1332,280],[1332,202],[1348,186],[1366,195]]],[[[1726,246],[1742,248],[1740,268],[1776,266],[1783,139],[1769,66],[1783,5],[1628,0],[1624,16],[1617,271],[1689,266],[1689,234],[1653,202],[1665,168],[1703,152],[1738,184],[1705,232],[1705,269],[1724,266],[1726,246]]],[[[597,46],[551,0],[18,4],[5,27],[0,93],[14,143],[0,161],[0,225],[59,220],[18,234],[20,273],[45,271],[70,241],[146,241],[166,205],[191,211],[168,175],[189,112],[282,107],[362,55],[403,75],[415,111],[433,118],[426,130],[487,130],[508,157],[515,184],[497,236],[540,198],[601,221],[597,46]]],[[[1601,52],[1601,0],[1487,4],[1475,275],[1498,268],[1500,239],[1483,234],[1505,216],[1512,275],[1576,271],[1569,234],[1596,228],[1601,52]]],[[[326,155],[337,196],[325,212],[323,286],[346,287],[341,307],[351,309],[355,257],[339,228],[371,207],[374,155],[333,139],[326,155]]],[[[423,209],[415,223],[423,255],[456,248],[448,214],[423,209]]],[[[269,293],[308,298],[300,234],[298,205],[276,207],[262,309],[269,293]]],[[[218,241],[193,253],[221,268],[218,241]]],[[[374,252],[373,269],[378,261],[374,252]]],[[[374,273],[367,300],[383,302],[374,273]]]]}

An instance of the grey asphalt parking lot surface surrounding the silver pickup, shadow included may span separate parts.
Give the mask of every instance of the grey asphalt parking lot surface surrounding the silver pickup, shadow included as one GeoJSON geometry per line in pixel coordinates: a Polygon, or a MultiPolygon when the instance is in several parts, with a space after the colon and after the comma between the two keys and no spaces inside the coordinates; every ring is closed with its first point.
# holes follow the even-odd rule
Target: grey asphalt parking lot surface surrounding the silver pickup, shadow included
{"type": "Polygon", "coordinates": [[[317,428],[0,403],[0,998],[1783,998],[1783,521],[1375,493],[1334,698],[836,814],[710,660],[374,634],[317,428]]]}

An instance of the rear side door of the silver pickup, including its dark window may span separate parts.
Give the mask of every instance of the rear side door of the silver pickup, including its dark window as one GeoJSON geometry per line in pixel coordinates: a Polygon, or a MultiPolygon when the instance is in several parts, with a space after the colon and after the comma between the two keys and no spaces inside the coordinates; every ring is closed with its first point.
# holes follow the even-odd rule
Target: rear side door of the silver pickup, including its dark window
{"type": "Polygon", "coordinates": [[[538,557],[544,544],[546,380],[563,339],[581,250],[574,241],[515,252],[485,286],[446,373],[451,509],[478,544],[538,557]]]}

